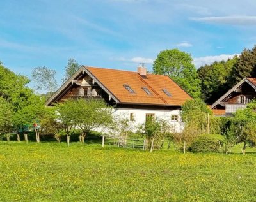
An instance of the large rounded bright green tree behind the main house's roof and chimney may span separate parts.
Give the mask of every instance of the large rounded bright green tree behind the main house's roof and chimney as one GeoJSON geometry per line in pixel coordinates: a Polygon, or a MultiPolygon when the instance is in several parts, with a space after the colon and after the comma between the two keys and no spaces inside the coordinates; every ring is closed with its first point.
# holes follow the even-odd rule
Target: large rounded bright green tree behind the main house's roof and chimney
{"type": "Polygon", "coordinates": [[[200,79],[192,57],[178,49],[163,50],[153,64],[153,73],[170,76],[192,97],[200,97],[200,79]]]}

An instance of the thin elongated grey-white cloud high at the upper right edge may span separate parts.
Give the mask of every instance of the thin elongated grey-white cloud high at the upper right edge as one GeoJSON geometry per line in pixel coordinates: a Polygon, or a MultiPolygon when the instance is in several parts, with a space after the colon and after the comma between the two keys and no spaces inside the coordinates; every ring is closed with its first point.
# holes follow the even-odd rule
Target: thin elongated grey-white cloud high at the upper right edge
{"type": "Polygon", "coordinates": [[[216,24],[230,24],[230,25],[256,25],[256,16],[220,16],[220,17],[202,17],[190,18],[198,22],[210,22],[216,24]]]}

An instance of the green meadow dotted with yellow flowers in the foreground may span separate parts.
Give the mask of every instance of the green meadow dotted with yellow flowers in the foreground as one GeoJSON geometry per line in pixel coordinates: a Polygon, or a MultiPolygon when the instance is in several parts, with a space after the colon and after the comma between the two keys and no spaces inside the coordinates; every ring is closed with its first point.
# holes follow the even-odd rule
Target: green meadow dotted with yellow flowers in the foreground
{"type": "Polygon", "coordinates": [[[256,201],[256,154],[0,142],[0,201],[256,201]]]}

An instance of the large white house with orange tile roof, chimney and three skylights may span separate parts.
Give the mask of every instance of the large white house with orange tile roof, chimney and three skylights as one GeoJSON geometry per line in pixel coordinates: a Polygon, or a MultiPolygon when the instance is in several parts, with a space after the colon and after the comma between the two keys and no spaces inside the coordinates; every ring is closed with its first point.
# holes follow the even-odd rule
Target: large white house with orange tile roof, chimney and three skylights
{"type": "Polygon", "coordinates": [[[47,105],[77,97],[104,99],[113,106],[113,115],[125,115],[136,124],[152,117],[168,119],[177,132],[182,130],[181,105],[191,99],[168,76],[147,73],[143,66],[137,72],[81,66],[47,105]]]}

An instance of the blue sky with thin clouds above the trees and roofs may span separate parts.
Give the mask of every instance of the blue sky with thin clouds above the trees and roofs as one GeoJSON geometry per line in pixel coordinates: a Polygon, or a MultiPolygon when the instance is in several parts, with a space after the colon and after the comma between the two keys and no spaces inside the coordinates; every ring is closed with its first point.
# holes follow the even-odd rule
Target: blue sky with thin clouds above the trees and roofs
{"type": "Polygon", "coordinates": [[[148,70],[179,48],[196,68],[228,59],[256,40],[253,0],[0,0],[0,61],[15,73],[79,64],[148,70]]]}

